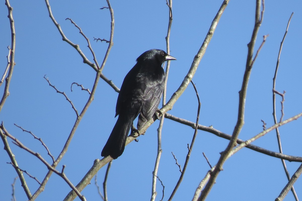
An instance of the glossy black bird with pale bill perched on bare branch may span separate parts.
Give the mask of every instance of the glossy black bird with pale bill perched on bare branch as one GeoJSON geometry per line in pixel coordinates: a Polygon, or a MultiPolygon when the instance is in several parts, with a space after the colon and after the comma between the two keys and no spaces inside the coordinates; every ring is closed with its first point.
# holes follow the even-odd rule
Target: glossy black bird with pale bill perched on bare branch
{"type": "Polygon", "coordinates": [[[117,122],[101,155],[116,159],[125,149],[127,135],[134,119],[138,117],[137,129],[154,115],[164,88],[165,71],[162,63],[176,60],[160,49],[150,49],[137,58],[137,63],[126,75],[117,97],[115,117],[117,122]]]}

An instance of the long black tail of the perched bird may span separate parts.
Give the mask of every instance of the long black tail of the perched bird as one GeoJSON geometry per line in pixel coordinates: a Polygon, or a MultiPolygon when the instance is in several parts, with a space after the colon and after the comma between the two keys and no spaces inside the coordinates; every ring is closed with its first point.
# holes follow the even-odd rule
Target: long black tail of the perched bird
{"type": "Polygon", "coordinates": [[[111,155],[113,159],[116,159],[125,149],[125,143],[127,135],[132,126],[133,119],[123,118],[120,115],[117,118],[117,121],[111,131],[111,134],[105,144],[101,156],[111,155]]]}

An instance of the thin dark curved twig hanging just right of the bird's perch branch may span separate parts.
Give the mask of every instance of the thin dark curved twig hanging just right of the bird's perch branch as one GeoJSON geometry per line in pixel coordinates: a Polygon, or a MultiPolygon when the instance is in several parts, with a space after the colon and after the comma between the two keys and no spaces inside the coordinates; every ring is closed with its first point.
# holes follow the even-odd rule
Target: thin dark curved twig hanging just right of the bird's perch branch
{"type": "Polygon", "coordinates": [[[173,196],[175,195],[179,185],[181,184],[182,182],[182,179],[185,175],[185,171],[187,169],[187,166],[188,166],[188,163],[189,163],[189,159],[190,159],[190,155],[191,155],[191,152],[192,152],[192,149],[193,149],[193,145],[194,145],[194,142],[195,142],[195,139],[196,139],[196,136],[197,136],[197,133],[198,133],[198,121],[199,121],[199,114],[200,114],[200,108],[201,108],[201,102],[200,102],[200,99],[199,99],[199,95],[198,95],[198,92],[197,92],[197,89],[196,89],[196,86],[195,84],[193,83],[193,81],[191,80],[191,83],[194,87],[194,90],[195,90],[195,93],[196,93],[196,96],[197,96],[197,100],[198,100],[198,109],[197,109],[197,117],[196,117],[196,124],[195,124],[195,130],[194,130],[194,135],[193,135],[193,138],[192,138],[192,142],[191,142],[191,145],[189,147],[189,144],[188,144],[188,154],[187,154],[187,157],[186,157],[186,160],[185,160],[185,164],[184,164],[184,167],[182,169],[182,174],[180,175],[179,179],[178,179],[178,182],[174,188],[174,190],[172,191],[171,193],[171,196],[170,198],[168,199],[168,201],[171,201],[173,196]]]}

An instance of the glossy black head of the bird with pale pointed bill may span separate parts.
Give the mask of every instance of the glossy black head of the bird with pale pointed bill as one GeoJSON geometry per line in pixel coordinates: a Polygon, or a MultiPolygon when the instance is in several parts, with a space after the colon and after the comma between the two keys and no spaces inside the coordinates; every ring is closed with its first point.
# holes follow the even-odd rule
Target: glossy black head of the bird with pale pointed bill
{"type": "Polygon", "coordinates": [[[136,61],[139,62],[146,60],[158,61],[160,64],[162,64],[164,61],[176,60],[176,58],[172,57],[171,55],[168,55],[165,51],[161,49],[150,49],[141,54],[136,61]]]}

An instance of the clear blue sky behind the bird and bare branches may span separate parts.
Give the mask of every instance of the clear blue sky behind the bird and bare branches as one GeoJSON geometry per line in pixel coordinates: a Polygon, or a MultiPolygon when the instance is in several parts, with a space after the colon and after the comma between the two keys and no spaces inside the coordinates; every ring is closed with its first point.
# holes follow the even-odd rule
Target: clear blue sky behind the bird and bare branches
{"type": "MultiPolygon", "coordinates": [[[[71,83],[83,84],[92,89],[95,71],[82,62],[74,48],[62,41],[58,30],[48,16],[44,1],[10,1],[14,8],[16,29],[16,52],[14,74],[11,80],[10,96],[0,113],[0,120],[6,129],[24,145],[39,152],[49,162],[50,157],[39,141],[22,132],[18,124],[41,137],[55,156],[59,154],[76,119],[75,112],[63,95],[56,93],[43,76],[58,90],[64,91],[80,111],[88,99],[88,93],[71,83]]],[[[177,90],[187,74],[191,62],[200,48],[210,24],[222,1],[174,1],[173,22],[170,38],[170,54],[177,58],[171,62],[168,78],[167,99],[177,90]]],[[[95,42],[95,38],[109,39],[110,13],[99,8],[107,6],[106,1],[50,1],[53,15],[61,25],[67,38],[79,44],[88,59],[92,61],[85,39],[70,21],[71,18],[90,39],[92,48],[101,63],[108,44],[95,42]]],[[[118,87],[124,76],[135,64],[136,58],[148,49],[164,49],[169,10],[164,0],[156,1],[112,1],[115,30],[114,46],[108,57],[103,74],[118,87]]],[[[302,2],[266,1],[264,20],[259,29],[255,48],[262,36],[269,34],[255,61],[249,81],[246,99],[245,124],[239,135],[247,140],[262,131],[262,122],[267,127],[274,124],[272,116],[272,78],[275,73],[280,42],[292,12],[294,16],[281,53],[276,90],[286,91],[284,119],[301,112],[302,79],[300,56],[302,53],[302,2]]],[[[0,6],[0,62],[1,75],[7,64],[7,46],[10,44],[9,21],[4,2],[0,6]]],[[[238,91],[241,88],[245,70],[247,43],[254,26],[255,1],[230,1],[223,13],[207,51],[193,77],[201,98],[199,123],[231,134],[237,121],[238,91]]],[[[3,92],[4,85],[0,92],[3,92]]],[[[101,150],[115,124],[117,93],[100,80],[95,99],[82,119],[68,152],[59,163],[58,169],[66,165],[66,176],[77,184],[92,166],[95,159],[101,159],[101,150]]],[[[280,118],[280,101],[277,96],[277,115],[280,118]]],[[[175,103],[170,114],[196,121],[197,99],[192,86],[188,86],[175,103]]],[[[135,123],[136,124],[136,123],[135,123]]],[[[108,177],[109,200],[149,200],[151,197],[152,171],[157,152],[156,121],[132,142],[121,157],[114,160],[108,177]]],[[[301,120],[280,128],[283,152],[301,156],[301,120]]],[[[165,185],[167,200],[180,176],[173,152],[183,167],[187,154],[187,143],[191,143],[194,130],[191,127],[165,119],[162,131],[162,159],[158,176],[165,185]]],[[[190,162],[178,192],[173,200],[191,200],[201,179],[209,170],[202,152],[215,165],[228,141],[211,133],[199,131],[190,162]]],[[[255,141],[253,144],[278,151],[275,132],[255,141]]],[[[47,168],[34,156],[10,143],[20,168],[43,180],[47,168]]],[[[3,145],[1,146],[3,147],[3,145]]],[[[11,199],[11,183],[16,172],[6,164],[9,158],[0,149],[0,194],[3,200],[11,199]]],[[[292,175],[300,163],[287,162],[292,175]]],[[[287,183],[280,159],[242,149],[223,166],[216,184],[207,200],[274,200],[287,183]]],[[[98,172],[101,186],[106,167],[98,172]]],[[[25,175],[32,193],[38,184],[25,175]]],[[[94,185],[88,185],[82,194],[87,200],[100,199],[94,185]]],[[[302,182],[294,185],[301,199],[302,182]]],[[[16,183],[17,200],[26,200],[19,181],[16,183]]],[[[53,174],[44,192],[37,200],[62,200],[69,192],[69,186],[62,178],[53,174]]],[[[162,197],[162,187],[157,184],[157,198],[162,197]]],[[[293,200],[290,192],[284,200],[293,200]]],[[[79,200],[77,198],[76,200],[79,200]]]]}

